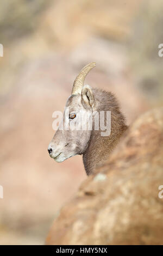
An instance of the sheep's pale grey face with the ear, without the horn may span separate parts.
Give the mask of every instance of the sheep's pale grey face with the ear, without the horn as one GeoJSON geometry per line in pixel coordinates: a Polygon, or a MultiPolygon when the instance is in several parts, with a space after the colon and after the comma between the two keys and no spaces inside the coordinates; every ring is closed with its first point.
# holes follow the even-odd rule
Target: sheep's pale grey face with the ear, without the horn
{"type": "Polygon", "coordinates": [[[94,103],[90,86],[84,86],[81,94],[71,95],[68,98],[62,119],[63,127],[65,127],[66,123],[68,130],[60,130],[59,126],[48,146],[49,155],[55,161],[62,162],[71,156],[84,153],[90,140],[91,130],[87,130],[87,128],[86,130],[76,130],[73,125],[76,125],[76,123],[78,125],[89,123],[94,103]],[[70,119],[69,115],[65,114],[68,110],[70,114],[76,114],[74,119],[70,119]]]}

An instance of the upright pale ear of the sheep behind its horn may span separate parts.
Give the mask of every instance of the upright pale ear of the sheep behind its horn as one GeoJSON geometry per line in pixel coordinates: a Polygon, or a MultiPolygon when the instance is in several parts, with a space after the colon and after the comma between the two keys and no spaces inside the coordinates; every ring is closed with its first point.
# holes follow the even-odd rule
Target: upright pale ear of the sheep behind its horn
{"type": "Polygon", "coordinates": [[[89,107],[93,107],[95,100],[90,86],[83,86],[82,89],[82,103],[83,106],[86,104],[89,107]]]}

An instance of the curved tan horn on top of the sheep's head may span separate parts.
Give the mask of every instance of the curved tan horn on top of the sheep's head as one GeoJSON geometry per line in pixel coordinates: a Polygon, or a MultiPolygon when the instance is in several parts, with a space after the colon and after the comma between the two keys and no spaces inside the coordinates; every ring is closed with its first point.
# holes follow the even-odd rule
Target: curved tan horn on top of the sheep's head
{"type": "Polygon", "coordinates": [[[78,76],[74,80],[71,95],[72,94],[76,95],[78,93],[81,94],[82,88],[83,88],[83,85],[84,85],[85,77],[88,74],[88,72],[92,68],[94,68],[94,66],[96,66],[96,63],[91,62],[91,63],[87,64],[86,66],[84,66],[84,68],[79,72],[78,76]]]}

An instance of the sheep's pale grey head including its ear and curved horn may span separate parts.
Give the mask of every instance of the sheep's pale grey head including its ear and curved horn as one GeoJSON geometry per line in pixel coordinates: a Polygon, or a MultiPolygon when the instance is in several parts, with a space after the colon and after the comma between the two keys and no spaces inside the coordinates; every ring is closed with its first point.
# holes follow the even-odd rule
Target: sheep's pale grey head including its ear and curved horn
{"type": "Polygon", "coordinates": [[[92,131],[88,125],[95,107],[95,99],[92,88],[84,86],[84,80],[95,65],[93,62],[84,66],[74,80],[62,121],[49,143],[49,155],[57,162],[83,154],[89,143],[92,131]]]}

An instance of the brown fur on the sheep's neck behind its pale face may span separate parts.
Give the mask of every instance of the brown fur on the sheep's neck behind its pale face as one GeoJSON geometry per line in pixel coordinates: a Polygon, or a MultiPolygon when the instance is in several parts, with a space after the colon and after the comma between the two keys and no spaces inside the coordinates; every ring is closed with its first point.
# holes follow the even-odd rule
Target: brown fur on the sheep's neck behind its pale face
{"type": "Polygon", "coordinates": [[[122,133],[126,131],[125,118],[120,111],[115,96],[110,92],[92,89],[95,98],[94,111],[111,111],[111,133],[110,136],[100,136],[100,130],[91,131],[89,145],[83,153],[83,162],[87,175],[95,172],[98,165],[102,164],[114,149],[122,133]]]}

